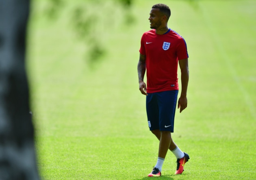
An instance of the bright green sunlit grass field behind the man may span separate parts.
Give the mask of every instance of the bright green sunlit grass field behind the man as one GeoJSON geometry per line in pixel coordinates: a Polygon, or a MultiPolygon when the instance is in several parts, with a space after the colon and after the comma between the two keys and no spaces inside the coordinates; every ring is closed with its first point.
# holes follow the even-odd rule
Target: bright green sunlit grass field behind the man
{"type": "MultiPolygon", "coordinates": [[[[148,129],[137,62],[158,2],[134,1],[135,22],[127,25],[120,12],[103,12],[106,29],[95,28],[107,53],[93,70],[70,25],[70,8],[81,1],[67,1],[55,21],[44,15],[44,1],[32,2],[27,69],[42,179],[149,179],[158,141],[148,129]]],[[[159,179],[255,180],[256,1],[161,2],[188,46],[188,108],[176,112],[172,136],[191,160],[174,176],[168,152],[159,179]]]]}

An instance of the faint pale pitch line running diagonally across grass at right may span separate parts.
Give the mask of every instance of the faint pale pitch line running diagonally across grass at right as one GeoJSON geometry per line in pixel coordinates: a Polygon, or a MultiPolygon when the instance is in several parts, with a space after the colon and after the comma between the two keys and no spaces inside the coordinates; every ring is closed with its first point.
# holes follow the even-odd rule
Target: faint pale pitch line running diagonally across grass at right
{"type": "Polygon", "coordinates": [[[226,53],[226,51],[224,51],[224,47],[223,47],[222,43],[219,43],[219,42],[221,42],[221,40],[219,40],[219,37],[213,32],[213,29],[214,29],[213,23],[211,23],[210,18],[208,18],[207,12],[205,12],[205,10],[204,10],[205,8],[202,7],[201,4],[200,4],[200,9],[203,13],[205,24],[208,26],[211,36],[213,37],[213,42],[216,44],[218,51],[221,53],[222,59],[225,61],[226,66],[228,67],[228,70],[229,70],[232,78],[234,79],[234,82],[236,83],[237,87],[239,87],[241,94],[244,96],[245,103],[247,104],[247,107],[249,108],[252,117],[254,119],[256,119],[256,112],[255,112],[256,110],[254,108],[254,104],[253,104],[252,100],[250,100],[250,98],[249,98],[249,93],[242,86],[241,81],[236,76],[236,74],[237,74],[236,70],[235,70],[233,64],[231,63],[231,61],[228,60],[230,58],[228,57],[228,54],[226,53]]]}

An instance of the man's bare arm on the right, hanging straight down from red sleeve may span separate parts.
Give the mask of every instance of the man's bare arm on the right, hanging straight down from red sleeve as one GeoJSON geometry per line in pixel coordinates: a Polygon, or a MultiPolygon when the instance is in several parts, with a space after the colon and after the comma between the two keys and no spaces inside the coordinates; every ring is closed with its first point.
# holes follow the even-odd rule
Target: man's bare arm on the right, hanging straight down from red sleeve
{"type": "Polygon", "coordinates": [[[178,100],[178,108],[180,108],[180,112],[187,108],[187,89],[189,83],[189,61],[188,58],[180,59],[180,72],[181,72],[181,93],[180,98],[178,100]]]}

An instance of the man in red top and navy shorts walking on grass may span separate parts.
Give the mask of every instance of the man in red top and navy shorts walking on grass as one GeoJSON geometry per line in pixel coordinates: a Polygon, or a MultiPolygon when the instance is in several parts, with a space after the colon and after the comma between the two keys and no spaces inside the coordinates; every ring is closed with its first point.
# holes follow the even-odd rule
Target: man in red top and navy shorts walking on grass
{"type": "Polygon", "coordinates": [[[182,152],[171,138],[178,96],[178,64],[181,70],[182,90],[178,108],[187,108],[189,82],[188,53],[185,40],[167,27],[171,15],[165,4],[155,4],[150,11],[150,28],[141,38],[138,63],[139,90],[146,95],[146,110],[150,131],[158,138],[158,160],[149,177],[161,176],[168,149],[177,159],[175,174],[182,174],[189,155],[182,152]],[[143,78],[147,70],[147,85],[143,78]]]}

